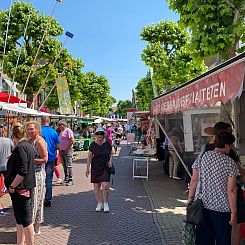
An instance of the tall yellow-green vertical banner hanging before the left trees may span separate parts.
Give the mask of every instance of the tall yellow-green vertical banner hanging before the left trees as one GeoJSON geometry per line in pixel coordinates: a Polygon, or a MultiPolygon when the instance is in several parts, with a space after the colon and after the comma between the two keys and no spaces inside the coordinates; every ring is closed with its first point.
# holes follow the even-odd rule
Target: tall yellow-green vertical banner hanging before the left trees
{"type": "Polygon", "coordinates": [[[59,98],[60,114],[72,114],[71,98],[66,77],[56,79],[57,94],[59,98]]]}

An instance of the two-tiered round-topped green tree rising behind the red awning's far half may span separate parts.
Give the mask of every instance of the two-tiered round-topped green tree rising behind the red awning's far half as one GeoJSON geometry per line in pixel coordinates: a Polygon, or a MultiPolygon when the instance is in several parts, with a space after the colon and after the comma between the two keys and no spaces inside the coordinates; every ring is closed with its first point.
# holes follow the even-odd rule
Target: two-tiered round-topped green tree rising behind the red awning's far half
{"type": "Polygon", "coordinates": [[[141,38],[148,42],[141,57],[147,66],[153,68],[158,94],[205,71],[203,60],[194,59],[194,52],[188,48],[189,34],[175,22],[164,20],[146,26],[141,38]]]}

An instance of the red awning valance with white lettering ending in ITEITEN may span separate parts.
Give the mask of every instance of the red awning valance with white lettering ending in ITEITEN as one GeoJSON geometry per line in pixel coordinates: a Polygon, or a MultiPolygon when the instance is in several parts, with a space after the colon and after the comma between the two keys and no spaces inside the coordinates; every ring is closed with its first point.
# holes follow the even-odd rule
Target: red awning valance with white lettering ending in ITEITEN
{"type": "Polygon", "coordinates": [[[203,78],[152,102],[151,113],[170,114],[218,101],[224,104],[240,96],[243,88],[244,62],[229,67],[210,77],[203,78]]]}

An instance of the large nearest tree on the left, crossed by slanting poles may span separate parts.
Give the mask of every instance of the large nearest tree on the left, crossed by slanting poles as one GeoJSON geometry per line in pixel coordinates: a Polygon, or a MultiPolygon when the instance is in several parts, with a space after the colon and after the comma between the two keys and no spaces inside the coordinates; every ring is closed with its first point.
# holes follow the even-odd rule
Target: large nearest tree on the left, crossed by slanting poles
{"type": "MultiPolygon", "coordinates": [[[[0,11],[0,52],[3,51],[8,13],[9,10],[0,11]]],[[[18,82],[19,89],[22,90],[30,69],[32,69],[25,90],[29,101],[32,101],[33,94],[38,91],[48,72],[50,75],[45,85],[46,90],[49,90],[49,87],[54,83],[55,78],[57,78],[58,74],[63,71],[67,61],[73,63],[73,68],[67,70],[65,73],[71,88],[72,100],[74,101],[78,97],[78,92],[73,88],[76,88],[77,86],[77,77],[79,77],[83,63],[81,60],[74,60],[66,49],[62,50],[62,43],[57,39],[62,33],[63,28],[56,19],[47,17],[45,14],[40,14],[28,3],[14,2],[9,25],[7,52],[4,59],[4,73],[10,78],[15,76],[15,81],[18,82]],[[24,30],[29,14],[31,14],[31,18],[24,37],[24,30]],[[45,30],[47,31],[44,36],[43,44],[35,60],[45,30]],[[21,44],[22,42],[23,44],[21,44]],[[19,65],[16,69],[16,61],[20,48],[21,55],[19,65]],[[53,65],[55,57],[58,56],[59,53],[60,57],[57,59],[55,65],[53,65]],[[33,66],[34,60],[35,63],[33,66]]],[[[50,100],[52,101],[52,97],[50,100]]],[[[55,101],[57,101],[57,97],[55,101]]],[[[57,103],[53,104],[52,102],[47,102],[47,104],[51,104],[53,107],[57,105],[57,103]]]]}

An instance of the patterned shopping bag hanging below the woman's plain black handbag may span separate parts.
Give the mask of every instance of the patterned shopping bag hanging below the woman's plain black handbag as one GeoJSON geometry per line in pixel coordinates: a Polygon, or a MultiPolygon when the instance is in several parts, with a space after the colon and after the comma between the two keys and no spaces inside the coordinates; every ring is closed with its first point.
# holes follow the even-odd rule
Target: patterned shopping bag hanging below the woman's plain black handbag
{"type": "Polygon", "coordinates": [[[195,245],[196,244],[196,229],[195,225],[183,220],[182,229],[182,241],[183,245],[195,245]]]}

